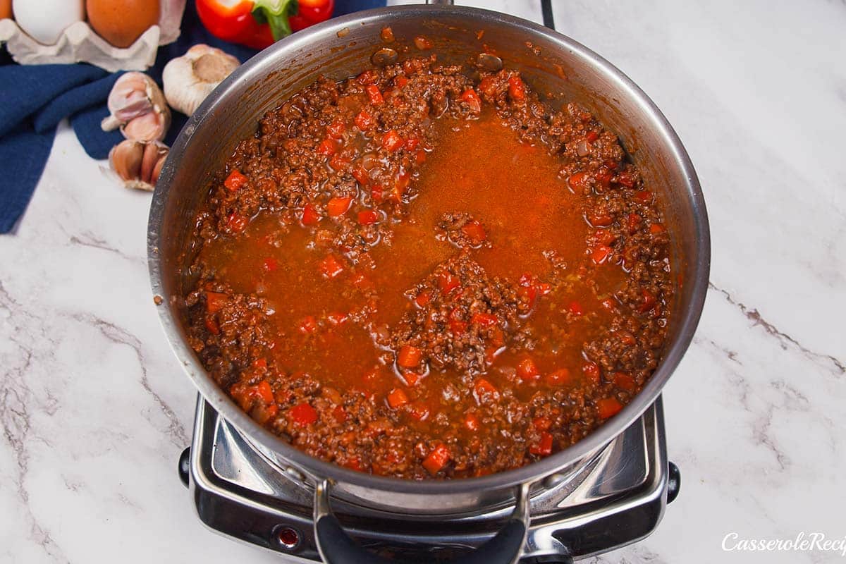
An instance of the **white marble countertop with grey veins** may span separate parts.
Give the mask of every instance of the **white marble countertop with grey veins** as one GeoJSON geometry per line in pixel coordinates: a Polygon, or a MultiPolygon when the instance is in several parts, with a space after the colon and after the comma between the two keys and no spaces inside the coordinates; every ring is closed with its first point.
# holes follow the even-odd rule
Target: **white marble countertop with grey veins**
{"type": "MultiPolygon", "coordinates": [[[[591,564],[846,561],[721,548],[846,537],[846,4],[553,1],[558,29],[678,130],[713,240],[665,394],[681,495],[655,534],[591,564]]],[[[474,4],[540,20],[535,0],[474,4]]],[[[100,166],[63,128],[0,237],[0,561],[278,561],[193,514],[175,465],[195,392],[150,297],[150,197],[100,166]]]]}

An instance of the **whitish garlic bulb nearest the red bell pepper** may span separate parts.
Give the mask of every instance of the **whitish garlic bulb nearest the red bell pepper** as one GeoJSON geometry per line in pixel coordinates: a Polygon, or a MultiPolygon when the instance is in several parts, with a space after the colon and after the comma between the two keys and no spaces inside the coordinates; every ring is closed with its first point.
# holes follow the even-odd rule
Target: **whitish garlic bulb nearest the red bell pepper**
{"type": "Polygon", "coordinates": [[[174,110],[190,116],[239,64],[237,58],[220,49],[195,45],[165,66],[164,96],[174,110]]]}

